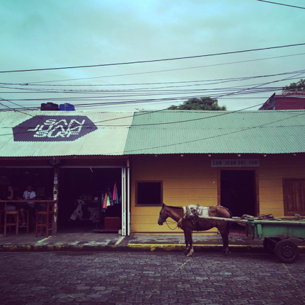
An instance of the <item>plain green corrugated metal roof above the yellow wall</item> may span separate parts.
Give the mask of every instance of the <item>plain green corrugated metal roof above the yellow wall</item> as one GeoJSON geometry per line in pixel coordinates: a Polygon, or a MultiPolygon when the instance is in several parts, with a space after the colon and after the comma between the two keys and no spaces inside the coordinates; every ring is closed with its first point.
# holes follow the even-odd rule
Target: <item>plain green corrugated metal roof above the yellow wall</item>
{"type": "Polygon", "coordinates": [[[125,146],[125,154],[298,152],[305,152],[304,110],[146,112],[134,115],[125,146]]]}

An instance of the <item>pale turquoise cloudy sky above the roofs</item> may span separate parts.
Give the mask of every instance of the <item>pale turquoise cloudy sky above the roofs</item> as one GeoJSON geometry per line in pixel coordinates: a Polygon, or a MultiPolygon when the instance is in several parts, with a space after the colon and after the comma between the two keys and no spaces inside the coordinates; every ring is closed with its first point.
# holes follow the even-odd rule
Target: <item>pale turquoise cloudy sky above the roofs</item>
{"type": "MultiPolygon", "coordinates": [[[[305,6],[304,0],[278,2],[305,6]]],[[[305,42],[304,9],[255,0],[1,0],[0,20],[0,71],[189,57],[305,42]]],[[[4,99],[0,108],[54,102],[73,103],[76,110],[160,110],[192,96],[212,96],[228,110],[257,110],[282,86],[305,78],[305,71],[219,79],[299,71],[305,69],[304,56],[302,45],[166,62],[0,73],[4,99]],[[251,89],[256,86],[260,92],[251,89]]]]}

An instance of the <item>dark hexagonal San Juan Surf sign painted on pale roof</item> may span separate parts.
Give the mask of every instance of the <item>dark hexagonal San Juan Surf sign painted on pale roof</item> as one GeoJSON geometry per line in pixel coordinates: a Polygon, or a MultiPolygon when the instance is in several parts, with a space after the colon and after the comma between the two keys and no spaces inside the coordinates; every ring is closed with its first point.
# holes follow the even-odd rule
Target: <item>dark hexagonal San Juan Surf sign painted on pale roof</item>
{"type": "Polygon", "coordinates": [[[96,125],[84,115],[35,115],[13,127],[16,142],[71,142],[95,132],[96,125]]]}

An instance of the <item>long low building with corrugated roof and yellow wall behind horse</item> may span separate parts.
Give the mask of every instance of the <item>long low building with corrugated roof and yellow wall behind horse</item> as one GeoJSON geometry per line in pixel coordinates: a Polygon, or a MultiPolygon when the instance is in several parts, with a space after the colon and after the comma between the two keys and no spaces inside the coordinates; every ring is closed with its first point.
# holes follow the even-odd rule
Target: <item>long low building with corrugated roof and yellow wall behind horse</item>
{"type": "Polygon", "coordinates": [[[59,229],[81,197],[122,235],[172,232],[163,202],[305,215],[304,123],[304,110],[1,113],[1,192],[33,184],[58,201],[59,229]]]}

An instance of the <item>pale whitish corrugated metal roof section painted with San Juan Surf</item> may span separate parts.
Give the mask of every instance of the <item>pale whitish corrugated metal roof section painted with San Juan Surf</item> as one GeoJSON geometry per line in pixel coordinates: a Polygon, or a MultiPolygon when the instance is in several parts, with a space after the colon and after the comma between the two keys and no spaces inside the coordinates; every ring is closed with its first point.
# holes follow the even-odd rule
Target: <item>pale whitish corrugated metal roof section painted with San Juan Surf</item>
{"type": "Polygon", "coordinates": [[[133,115],[134,112],[1,112],[0,156],[122,155],[133,115]]]}

